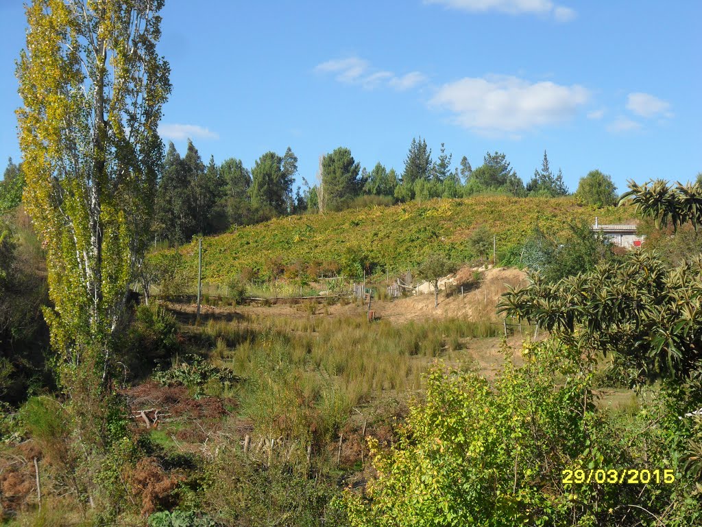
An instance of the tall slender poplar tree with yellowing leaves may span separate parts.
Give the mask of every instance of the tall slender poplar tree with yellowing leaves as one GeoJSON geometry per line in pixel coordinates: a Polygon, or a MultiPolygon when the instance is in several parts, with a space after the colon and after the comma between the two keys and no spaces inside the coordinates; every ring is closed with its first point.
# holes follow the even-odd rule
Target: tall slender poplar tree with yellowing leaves
{"type": "Polygon", "coordinates": [[[46,247],[52,307],[44,316],[64,359],[60,377],[86,414],[107,393],[151,223],[163,158],[157,126],[171,92],[156,50],[163,5],[34,0],[26,8],[17,65],[24,199],[46,247]]]}

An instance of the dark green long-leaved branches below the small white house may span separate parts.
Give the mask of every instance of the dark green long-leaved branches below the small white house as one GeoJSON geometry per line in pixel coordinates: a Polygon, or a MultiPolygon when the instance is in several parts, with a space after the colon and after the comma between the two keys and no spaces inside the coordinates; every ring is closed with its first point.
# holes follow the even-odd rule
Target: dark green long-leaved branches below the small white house
{"type": "Polygon", "coordinates": [[[657,254],[635,252],[590,273],[505,295],[500,309],[562,339],[614,352],[634,380],[687,378],[702,360],[702,259],[667,268],[657,254]]]}

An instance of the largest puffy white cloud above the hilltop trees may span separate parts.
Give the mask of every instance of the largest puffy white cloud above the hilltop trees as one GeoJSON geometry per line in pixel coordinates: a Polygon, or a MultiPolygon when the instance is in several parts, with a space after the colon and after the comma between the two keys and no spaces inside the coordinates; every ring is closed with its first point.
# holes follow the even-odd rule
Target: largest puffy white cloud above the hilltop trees
{"type": "Polygon", "coordinates": [[[531,83],[517,77],[466,77],[444,84],[430,105],[449,110],[453,121],[484,134],[510,133],[563,122],[588,101],[574,84],[531,83]]]}

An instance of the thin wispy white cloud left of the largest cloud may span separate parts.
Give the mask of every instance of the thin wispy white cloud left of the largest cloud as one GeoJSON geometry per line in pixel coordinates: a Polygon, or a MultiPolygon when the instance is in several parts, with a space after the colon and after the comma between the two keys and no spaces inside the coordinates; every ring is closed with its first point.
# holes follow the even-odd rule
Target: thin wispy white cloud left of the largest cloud
{"type": "Polygon", "coordinates": [[[358,57],[335,58],[314,67],[317,73],[336,73],[335,79],[345,84],[360,84],[366,89],[390,86],[398,91],[407,90],[421,84],[427,78],[420,72],[410,72],[397,76],[386,70],[374,71],[367,60],[358,57]]]}

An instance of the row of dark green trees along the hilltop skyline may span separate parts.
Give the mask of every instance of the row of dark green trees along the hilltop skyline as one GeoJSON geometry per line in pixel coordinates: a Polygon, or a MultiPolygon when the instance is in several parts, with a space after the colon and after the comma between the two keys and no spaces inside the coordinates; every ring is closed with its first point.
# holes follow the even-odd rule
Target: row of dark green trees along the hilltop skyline
{"type": "MultiPolygon", "coordinates": [[[[483,163],[473,169],[463,156],[452,169],[453,155],[444,143],[436,160],[423,138],[414,138],[404,160],[404,171],[389,170],[380,162],[371,171],[362,168],[348,148],[336,148],[320,157],[317,184],[293,194],[298,158],[291,148],[284,155],[265,152],[251,170],[241,160],[229,158],[205,164],[193,145],[187,142],[181,157],[173,143],[168,144],[157,188],[152,224],[154,241],[178,245],[194,235],[224,232],[232,226],[250,225],[275,216],[304,212],[328,212],[369,204],[394,204],[437,197],[468,197],[498,193],[515,197],[558,197],[569,194],[562,171],[553,174],[548,155],[543,152],[541,169],[524,184],[501,152],[486,152],[483,163]]],[[[21,164],[9,160],[0,181],[0,214],[20,204],[24,177],[21,164]]],[[[591,171],[581,178],[576,195],[604,206],[614,204],[616,188],[607,174],[591,171]]]]}

